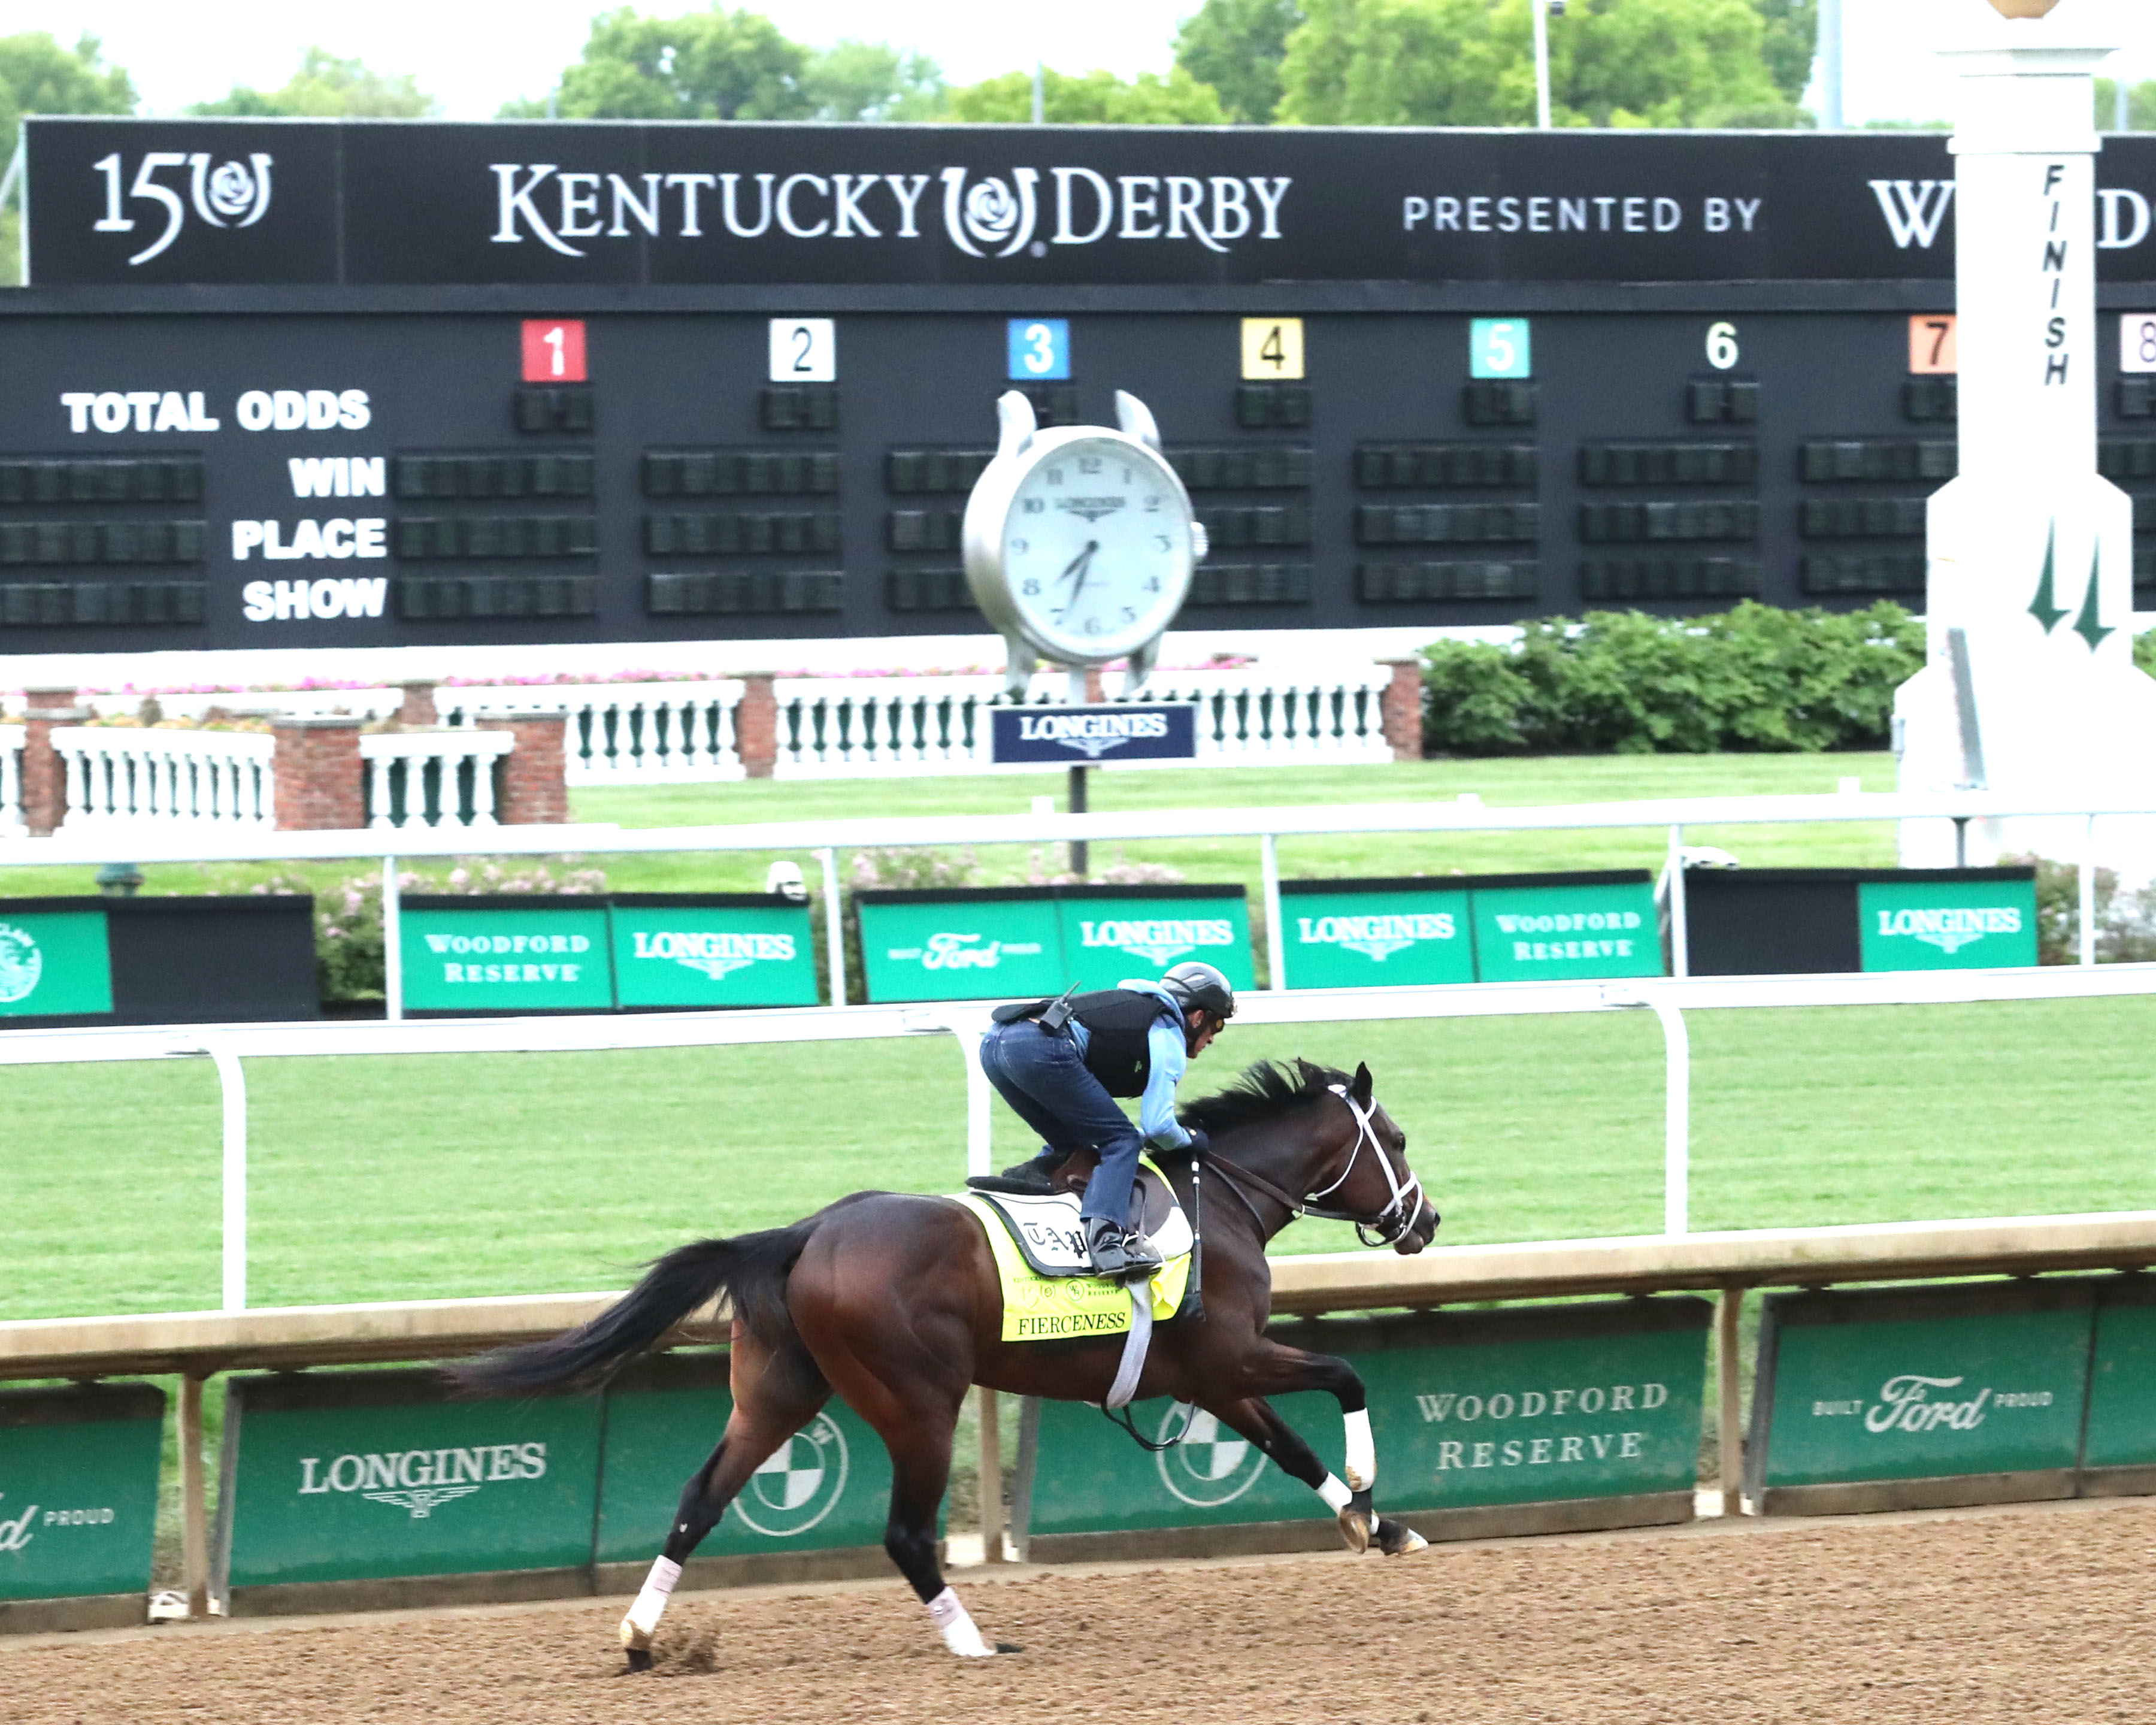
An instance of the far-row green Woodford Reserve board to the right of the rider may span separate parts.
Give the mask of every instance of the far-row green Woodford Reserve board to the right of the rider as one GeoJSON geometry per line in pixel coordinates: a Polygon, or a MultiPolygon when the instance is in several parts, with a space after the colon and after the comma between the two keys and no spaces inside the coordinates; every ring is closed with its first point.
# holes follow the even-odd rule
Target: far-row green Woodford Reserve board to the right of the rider
{"type": "Polygon", "coordinates": [[[1462,884],[1473,897],[1479,981],[1662,975],[1660,912],[1645,869],[1462,884]]]}

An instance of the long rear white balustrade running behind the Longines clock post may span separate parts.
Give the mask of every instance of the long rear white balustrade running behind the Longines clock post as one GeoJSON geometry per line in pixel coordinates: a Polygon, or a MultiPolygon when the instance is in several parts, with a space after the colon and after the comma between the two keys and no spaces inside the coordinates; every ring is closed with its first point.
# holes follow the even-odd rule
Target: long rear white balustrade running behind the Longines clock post
{"type": "MultiPolygon", "coordinates": [[[[1192,765],[1350,765],[1393,759],[1388,686],[1382,664],[1242,666],[1160,673],[1141,699],[1197,707],[1192,765]]],[[[740,679],[472,686],[438,690],[436,707],[444,724],[567,709],[571,785],[694,785],[744,776],[735,714],[746,688],[740,679]]],[[[772,694],[778,778],[1039,772],[987,759],[987,709],[1005,705],[1000,677],[778,677],[772,694]]],[[[1063,699],[1059,677],[1037,679],[1035,705],[1063,699]]]]}

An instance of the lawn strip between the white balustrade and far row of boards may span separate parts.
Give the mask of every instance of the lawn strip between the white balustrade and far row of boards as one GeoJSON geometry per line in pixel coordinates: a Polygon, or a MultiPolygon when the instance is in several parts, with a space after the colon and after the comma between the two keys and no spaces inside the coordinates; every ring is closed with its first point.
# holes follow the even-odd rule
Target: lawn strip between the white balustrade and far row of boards
{"type": "MultiPolygon", "coordinates": [[[[1518,761],[1416,761],[1367,768],[1231,768],[1214,772],[1117,770],[1093,774],[1089,802],[1100,811],[1227,809],[1313,802],[1427,802],[1475,791],[1490,806],[1546,802],[1617,802],[1658,796],[1794,796],[1833,791],[1843,776],[1865,789],[1893,787],[1889,755],[1595,755],[1518,761]]],[[[862,815],[992,815],[1024,813],[1035,796],[1063,806],[1065,774],[964,778],[832,778],[733,785],[662,785],[582,789],[573,811],[584,822],[621,826],[711,826],[862,815]]],[[[1744,862],[1768,867],[1878,867],[1893,862],[1893,830],[1882,822],[1785,828],[1701,828],[1690,843],[1723,845],[1744,862]]],[[[1641,869],[1662,858],[1660,828],[1591,832],[1490,832],[1447,839],[1414,834],[1348,834],[1281,843],[1285,875],[1412,875],[1505,873],[1531,869],[1641,869]]],[[[1095,867],[1115,860],[1166,862],[1190,880],[1244,882],[1257,893],[1257,843],[1250,839],[1134,843],[1095,847],[1095,867]]],[[[772,858],[731,856],[593,856],[608,884],[623,893],[763,886],[772,858]]],[[[813,858],[800,856],[813,882],[813,858]]],[[[1035,856],[1000,847],[979,858],[983,884],[1022,880],[1028,869],[1063,869],[1061,847],[1035,856]]],[[[13,869],[0,891],[88,893],[91,869],[13,869]]],[[[321,865],[153,865],[147,893],[235,893],[272,878],[298,878],[317,893],[354,873],[349,862],[321,865]]]]}

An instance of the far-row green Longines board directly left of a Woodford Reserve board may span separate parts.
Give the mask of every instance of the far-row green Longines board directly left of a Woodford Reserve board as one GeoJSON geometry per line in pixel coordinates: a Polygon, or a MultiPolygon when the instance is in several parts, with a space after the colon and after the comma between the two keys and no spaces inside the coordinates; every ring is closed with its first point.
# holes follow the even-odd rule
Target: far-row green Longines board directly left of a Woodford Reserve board
{"type": "Polygon", "coordinates": [[[1283,880],[1289,988],[1475,981],[1468,895],[1436,880],[1283,880]]]}

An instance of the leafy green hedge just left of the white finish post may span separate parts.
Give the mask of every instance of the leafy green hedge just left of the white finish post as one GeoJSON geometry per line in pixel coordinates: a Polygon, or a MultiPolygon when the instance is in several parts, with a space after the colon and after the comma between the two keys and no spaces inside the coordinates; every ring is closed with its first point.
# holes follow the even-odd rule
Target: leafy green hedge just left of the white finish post
{"type": "Polygon", "coordinates": [[[1880,746],[1923,630],[1895,604],[1598,610],[1529,623],[1509,647],[1440,640],[1423,660],[1423,744],[1438,755],[1815,753],[1880,746]]]}

